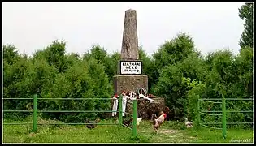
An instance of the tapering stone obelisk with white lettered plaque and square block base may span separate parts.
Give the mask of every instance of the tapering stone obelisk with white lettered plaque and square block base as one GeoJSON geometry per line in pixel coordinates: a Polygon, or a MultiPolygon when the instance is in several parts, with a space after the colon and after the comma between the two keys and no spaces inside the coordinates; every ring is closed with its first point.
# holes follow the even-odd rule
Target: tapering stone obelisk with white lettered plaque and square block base
{"type": "Polygon", "coordinates": [[[135,10],[125,11],[124,32],[121,49],[121,60],[118,74],[114,76],[114,88],[117,94],[122,91],[136,92],[138,88],[148,90],[148,76],[142,75],[142,62],[139,60],[137,13],[135,10]]]}

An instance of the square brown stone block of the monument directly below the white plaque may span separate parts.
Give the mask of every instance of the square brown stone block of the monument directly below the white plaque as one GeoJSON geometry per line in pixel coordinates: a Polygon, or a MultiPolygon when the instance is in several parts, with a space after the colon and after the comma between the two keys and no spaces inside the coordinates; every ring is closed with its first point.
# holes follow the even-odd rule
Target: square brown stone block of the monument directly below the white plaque
{"type": "Polygon", "coordinates": [[[147,75],[115,75],[114,90],[119,95],[124,92],[136,92],[138,88],[148,90],[147,75]]]}

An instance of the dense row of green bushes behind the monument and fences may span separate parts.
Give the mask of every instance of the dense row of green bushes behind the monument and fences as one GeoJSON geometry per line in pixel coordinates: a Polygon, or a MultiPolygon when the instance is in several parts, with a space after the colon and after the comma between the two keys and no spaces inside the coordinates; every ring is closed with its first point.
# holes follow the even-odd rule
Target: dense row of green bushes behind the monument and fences
{"type": "MultiPolygon", "coordinates": [[[[87,53],[67,54],[64,41],[54,41],[32,57],[19,54],[15,45],[3,45],[3,97],[111,98],[113,76],[120,54],[107,54],[95,45],[87,53]]],[[[197,97],[252,98],[253,49],[244,47],[237,55],[229,49],[203,56],[191,36],[180,33],[151,56],[140,47],[143,74],[148,75],[149,92],[164,97],[174,112],[172,119],[196,120],[197,97]]],[[[4,110],[32,110],[32,100],[4,100],[4,110]]],[[[38,110],[111,110],[111,100],[38,100],[38,110]]],[[[219,104],[202,103],[202,110],[221,110],[219,104]]],[[[251,101],[227,101],[228,110],[253,110],[251,101]]],[[[5,113],[5,118],[24,118],[29,113],[5,113]]],[[[227,114],[228,122],[253,122],[252,113],[227,114]]],[[[41,113],[63,122],[85,122],[85,118],[106,118],[103,113],[41,113]]],[[[202,115],[202,122],[221,122],[202,115]]],[[[241,127],[249,127],[248,125],[241,127]]]]}

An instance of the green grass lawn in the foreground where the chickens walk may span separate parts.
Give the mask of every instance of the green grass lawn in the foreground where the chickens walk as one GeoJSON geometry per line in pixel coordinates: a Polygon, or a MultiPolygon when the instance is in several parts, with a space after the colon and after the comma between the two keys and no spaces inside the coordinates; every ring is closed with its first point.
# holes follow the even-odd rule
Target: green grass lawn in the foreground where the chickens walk
{"type": "MultiPolygon", "coordinates": [[[[32,121],[32,118],[26,119],[32,121]]],[[[42,120],[41,123],[54,122],[42,120]]],[[[4,122],[13,122],[4,120],[4,122]]],[[[24,122],[24,121],[23,121],[24,122]]],[[[112,122],[112,121],[102,121],[112,122]]],[[[30,132],[30,125],[4,125],[4,143],[253,143],[253,130],[228,129],[227,139],[223,140],[222,131],[208,128],[187,129],[184,123],[164,122],[158,134],[153,133],[150,121],[141,121],[137,130],[137,140],[132,140],[132,131],[126,127],[98,125],[89,130],[85,125],[38,125],[38,132],[30,132]]]]}

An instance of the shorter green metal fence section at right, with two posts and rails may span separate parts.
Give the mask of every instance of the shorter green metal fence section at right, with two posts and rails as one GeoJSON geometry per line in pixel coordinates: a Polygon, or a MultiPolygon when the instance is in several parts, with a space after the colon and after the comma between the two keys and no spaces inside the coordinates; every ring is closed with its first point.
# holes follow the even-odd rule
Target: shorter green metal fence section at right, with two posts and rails
{"type": "Polygon", "coordinates": [[[253,101],[252,98],[211,98],[211,99],[199,99],[197,97],[197,126],[203,126],[203,127],[208,127],[208,128],[213,128],[217,130],[222,130],[223,133],[223,138],[226,139],[227,137],[227,124],[254,124],[254,122],[227,122],[227,113],[253,113],[253,110],[249,111],[232,111],[232,110],[226,110],[226,101],[253,101]],[[221,100],[221,102],[220,102],[221,100]],[[200,110],[200,101],[202,102],[210,102],[214,104],[221,104],[222,111],[207,111],[207,110],[200,110]],[[208,114],[208,113],[221,113],[221,114],[208,114]],[[201,123],[200,121],[200,114],[206,114],[210,116],[222,116],[222,122],[206,122],[206,123],[201,123]],[[218,125],[222,124],[221,128],[216,128],[216,127],[209,127],[206,125],[218,125]]]}

